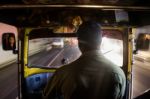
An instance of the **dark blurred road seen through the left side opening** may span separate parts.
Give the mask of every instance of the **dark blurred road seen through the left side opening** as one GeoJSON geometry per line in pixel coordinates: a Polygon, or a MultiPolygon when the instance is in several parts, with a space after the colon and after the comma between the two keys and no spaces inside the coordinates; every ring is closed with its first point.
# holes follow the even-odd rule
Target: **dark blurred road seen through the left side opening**
{"type": "Polygon", "coordinates": [[[0,70],[0,99],[17,96],[17,65],[13,63],[0,70]]]}

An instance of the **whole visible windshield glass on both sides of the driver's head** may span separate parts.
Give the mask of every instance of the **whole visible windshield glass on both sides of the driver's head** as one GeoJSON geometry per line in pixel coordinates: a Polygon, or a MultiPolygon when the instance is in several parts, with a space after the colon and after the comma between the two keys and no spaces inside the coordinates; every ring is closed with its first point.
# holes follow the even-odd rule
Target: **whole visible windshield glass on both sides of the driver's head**
{"type": "MultiPolygon", "coordinates": [[[[102,38],[100,49],[108,60],[117,66],[123,65],[122,40],[105,35],[102,38]]],[[[77,60],[80,55],[81,52],[78,48],[76,37],[51,37],[29,40],[28,66],[57,68],[77,60]]]]}

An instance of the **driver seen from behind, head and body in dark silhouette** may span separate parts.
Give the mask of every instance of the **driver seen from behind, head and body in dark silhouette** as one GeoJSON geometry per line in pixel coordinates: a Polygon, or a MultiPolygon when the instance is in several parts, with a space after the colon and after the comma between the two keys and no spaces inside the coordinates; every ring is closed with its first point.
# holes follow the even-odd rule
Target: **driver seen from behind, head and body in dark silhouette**
{"type": "Polygon", "coordinates": [[[44,90],[44,98],[122,99],[126,78],[122,69],[100,52],[100,25],[84,22],[77,35],[82,55],[55,72],[44,90]]]}

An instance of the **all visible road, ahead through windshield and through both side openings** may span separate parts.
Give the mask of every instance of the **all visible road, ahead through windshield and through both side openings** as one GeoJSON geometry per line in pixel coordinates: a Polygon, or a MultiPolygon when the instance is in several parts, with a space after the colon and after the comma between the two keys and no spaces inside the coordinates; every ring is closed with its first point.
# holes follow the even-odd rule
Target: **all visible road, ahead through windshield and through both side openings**
{"type": "MultiPolygon", "coordinates": [[[[68,58],[69,62],[74,61],[80,55],[77,53],[78,50],[74,47],[42,51],[38,54],[32,55],[29,63],[36,63],[44,66],[58,66],[62,65],[61,59],[63,58],[68,58]]],[[[16,63],[10,64],[6,68],[0,70],[0,75],[0,99],[15,99],[17,97],[16,63]]],[[[150,65],[148,63],[135,61],[133,66],[133,96],[135,97],[144,90],[150,88],[149,82],[150,65]]]]}

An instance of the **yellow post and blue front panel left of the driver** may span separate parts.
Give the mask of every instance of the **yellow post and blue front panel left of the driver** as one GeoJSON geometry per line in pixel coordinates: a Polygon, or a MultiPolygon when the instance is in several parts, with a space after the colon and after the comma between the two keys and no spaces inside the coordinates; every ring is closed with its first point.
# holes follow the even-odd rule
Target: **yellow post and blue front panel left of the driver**
{"type": "Polygon", "coordinates": [[[25,29],[21,39],[21,99],[37,99],[41,91],[55,72],[55,68],[40,68],[28,66],[29,32],[25,29]]]}

